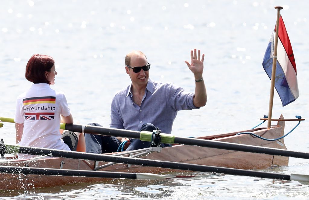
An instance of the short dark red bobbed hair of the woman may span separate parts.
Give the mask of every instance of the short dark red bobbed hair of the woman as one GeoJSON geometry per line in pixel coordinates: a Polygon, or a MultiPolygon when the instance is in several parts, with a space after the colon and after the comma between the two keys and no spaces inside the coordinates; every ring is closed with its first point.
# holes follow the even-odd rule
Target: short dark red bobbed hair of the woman
{"type": "Polygon", "coordinates": [[[49,72],[54,64],[55,61],[50,56],[33,54],[27,63],[25,77],[32,83],[50,84],[45,76],[45,71],[49,72]]]}

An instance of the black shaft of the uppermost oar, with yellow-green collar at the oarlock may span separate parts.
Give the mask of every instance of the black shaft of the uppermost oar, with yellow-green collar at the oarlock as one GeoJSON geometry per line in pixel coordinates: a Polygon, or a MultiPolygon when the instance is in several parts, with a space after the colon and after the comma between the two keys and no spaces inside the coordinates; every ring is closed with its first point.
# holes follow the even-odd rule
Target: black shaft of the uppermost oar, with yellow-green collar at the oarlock
{"type": "MultiPolygon", "coordinates": [[[[82,132],[82,129],[83,129],[82,127],[83,127],[82,125],[75,125],[75,124],[66,124],[65,126],[66,130],[71,130],[74,132],[82,132]]],[[[140,135],[141,135],[141,132],[139,131],[104,128],[100,126],[84,126],[84,132],[91,133],[91,134],[98,134],[98,135],[108,135],[108,136],[136,138],[136,139],[140,139],[140,135]]],[[[217,148],[217,149],[226,149],[226,150],[232,150],[232,151],[264,153],[268,155],[281,155],[281,156],[289,156],[289,157],[294,157],[294,158],[309,159],[309,153],[305,153],[305,152],[289,151],[285,149],[258,147],[258,146],[253,146],[253,145],[235,144],[235,143],[227,143],[227,142],[212,141],[212,140],[203,140],[203,139],[197,139],[197,138],[183,138],[183,137],[175,136],[174,143],[201,146],[201,147],[210,147],[210,148],[217,148]]]]}

